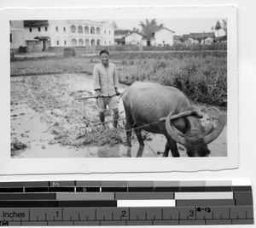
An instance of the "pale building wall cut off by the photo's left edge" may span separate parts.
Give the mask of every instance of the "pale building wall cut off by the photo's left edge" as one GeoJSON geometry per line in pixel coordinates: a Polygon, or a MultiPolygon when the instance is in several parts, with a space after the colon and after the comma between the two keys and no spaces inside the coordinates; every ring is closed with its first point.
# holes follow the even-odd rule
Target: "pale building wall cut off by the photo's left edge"
{"type": "Polygon", "coordinates": [[[23,20],[10,21],[10,48],[16,49],[20,46],[25,47],[25,35],[23,20]]]}

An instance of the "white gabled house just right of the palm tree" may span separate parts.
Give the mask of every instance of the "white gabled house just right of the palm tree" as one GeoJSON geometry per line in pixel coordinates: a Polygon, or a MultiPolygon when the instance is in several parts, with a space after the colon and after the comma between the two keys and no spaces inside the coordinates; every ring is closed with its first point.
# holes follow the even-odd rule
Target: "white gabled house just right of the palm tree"
{"type": "Polygon", "coordinates": [[[172,31],[166,27],[161,27],[152,32],[153,37],[150,40],[152,46],[172,46],[174,43],[175,31],[172,31]]]}

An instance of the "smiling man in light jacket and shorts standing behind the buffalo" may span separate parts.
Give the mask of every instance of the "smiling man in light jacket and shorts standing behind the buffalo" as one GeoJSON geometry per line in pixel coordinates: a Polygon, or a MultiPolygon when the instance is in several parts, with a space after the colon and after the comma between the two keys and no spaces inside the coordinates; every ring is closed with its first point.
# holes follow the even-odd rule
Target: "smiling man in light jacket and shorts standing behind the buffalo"
{"type": "Polygon", "coordinates": [[[104,126],[106,106],[113,110],[113,128],[117,127],[119,119],[119,77],[116,67],[113,63],[109,63],[109,53],[107,50],[100,52],[102,63],[96,64],[93,69],[93,87],[95,90],[95,98],[99,108],[99,117],[104,126]]]}

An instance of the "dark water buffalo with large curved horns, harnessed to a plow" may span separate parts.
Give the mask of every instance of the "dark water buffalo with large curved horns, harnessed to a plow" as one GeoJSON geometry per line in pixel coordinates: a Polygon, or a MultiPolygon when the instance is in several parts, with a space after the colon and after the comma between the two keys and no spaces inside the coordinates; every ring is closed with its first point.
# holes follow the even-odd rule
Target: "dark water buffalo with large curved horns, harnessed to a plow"
{"type": "Polygon", "coordinates": [[[191,101],[177,88],[157,83],[133,83],[122,94],[126,117],[127,144],[131,146],[131,128],[154,123],[135,129],[140,145],[144,145],[142,129],[154,134],[166,136],[166,148],[163,157],[179,157],[177,143],[184,145],[189,157],[207,157],[210,151],[207,144],[215,140],[224,128],[224,117],[218,114],[218,124],[214,128],[201,125],[196,115],[172,119],[173,115],[183,111],[195,110],[191,101]],[[159,121],[167,117],[166,121],[159,121]]]}

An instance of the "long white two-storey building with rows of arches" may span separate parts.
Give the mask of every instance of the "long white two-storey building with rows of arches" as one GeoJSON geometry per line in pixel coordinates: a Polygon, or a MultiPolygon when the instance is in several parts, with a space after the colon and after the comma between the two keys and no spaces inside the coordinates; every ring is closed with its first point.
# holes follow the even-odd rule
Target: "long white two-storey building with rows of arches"
{"type": "Polygon", "coordinates": [[[114,44],[114,29],[108,21],[25,20],[24,27],[25,39],[29,41],[41,40],[42,50],[45,49],[45,45],[50,47],[84,47],[114,44]]]}

